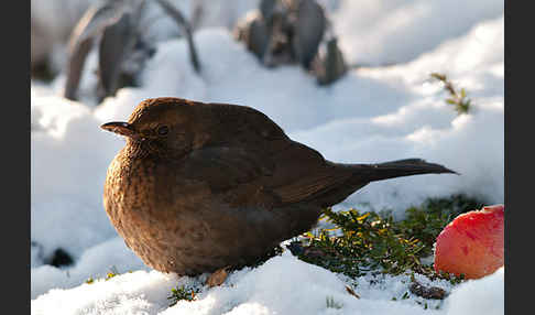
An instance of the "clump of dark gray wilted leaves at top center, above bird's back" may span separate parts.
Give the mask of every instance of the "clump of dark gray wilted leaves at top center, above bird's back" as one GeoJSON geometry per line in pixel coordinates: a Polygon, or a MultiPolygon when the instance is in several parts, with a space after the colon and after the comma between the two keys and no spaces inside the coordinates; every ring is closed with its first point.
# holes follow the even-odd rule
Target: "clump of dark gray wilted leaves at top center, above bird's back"
{"type": "Polygon", "coordinates": [[[335,36],[328,36],[326,52],[318,53],[328,30],[325,10],[315,0],[262,0],[234,34],[263,65],[301,64],[320,85],[328,85],[347,72],[335,36]]]}

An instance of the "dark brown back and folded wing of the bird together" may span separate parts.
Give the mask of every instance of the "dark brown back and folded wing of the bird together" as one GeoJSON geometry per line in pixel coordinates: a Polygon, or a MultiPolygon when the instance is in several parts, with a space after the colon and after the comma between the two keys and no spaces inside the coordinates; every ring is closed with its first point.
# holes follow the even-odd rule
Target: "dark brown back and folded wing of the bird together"
{"type": "Polygon", "coordinates": [[[276,196],[284,205],[314,198],[351,176],[316,150],[292,141],[253,108],[208,106],[215,113],[209,126],[205,124],[210,140],[188,155],[184,169],[190,170],[187,177],[207,183],[212,191],[238,191],[247,185],[276,196]]]}

